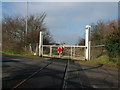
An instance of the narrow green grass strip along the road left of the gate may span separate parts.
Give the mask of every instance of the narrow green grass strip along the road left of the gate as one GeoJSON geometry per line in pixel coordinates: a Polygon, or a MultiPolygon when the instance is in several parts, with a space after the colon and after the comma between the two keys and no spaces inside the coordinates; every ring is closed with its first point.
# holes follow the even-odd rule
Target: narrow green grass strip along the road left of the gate
{"type": "Polygon", "coordinates": [[[8,55],[15,55],[15,56],[24,56],[30,58],[39,58],[39,56],[35,56],[33,54],[25,54],[22,52],[14,52],[14,51],[0,51],[0,53],[8,54],[8,55]]]}

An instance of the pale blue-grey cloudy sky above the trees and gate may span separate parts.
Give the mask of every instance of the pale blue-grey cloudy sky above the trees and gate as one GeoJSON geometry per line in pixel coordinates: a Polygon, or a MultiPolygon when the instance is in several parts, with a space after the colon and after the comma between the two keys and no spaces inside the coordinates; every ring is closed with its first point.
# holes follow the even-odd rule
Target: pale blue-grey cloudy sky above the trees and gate
{"type": "MultiPolygon", "coordinates": [[[[117,2],[29,2],[29,15],[45,12],[45,23],[56,42],[76,44],[85,36],[85,26],[118,17],[117,2]]],[[[3,15],[25,16],[25,2],[3,2],[3,15]]]]}

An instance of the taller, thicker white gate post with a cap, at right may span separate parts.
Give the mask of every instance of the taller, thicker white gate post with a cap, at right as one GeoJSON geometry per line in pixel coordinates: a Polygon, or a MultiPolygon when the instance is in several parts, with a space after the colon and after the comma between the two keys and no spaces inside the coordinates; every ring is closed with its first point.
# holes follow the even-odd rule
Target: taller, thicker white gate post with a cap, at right
{"type": "Polygon", "coordinates": [[[85,46],[86,46],[86,52],[85,52],[85,59],[87,61],[90,60],[90,27],[89,25],[86,25],[86,38],[85,38],[85,46]]]}

